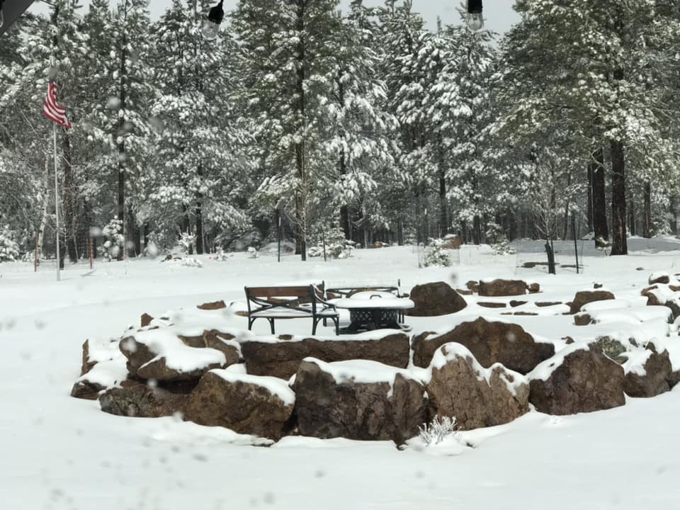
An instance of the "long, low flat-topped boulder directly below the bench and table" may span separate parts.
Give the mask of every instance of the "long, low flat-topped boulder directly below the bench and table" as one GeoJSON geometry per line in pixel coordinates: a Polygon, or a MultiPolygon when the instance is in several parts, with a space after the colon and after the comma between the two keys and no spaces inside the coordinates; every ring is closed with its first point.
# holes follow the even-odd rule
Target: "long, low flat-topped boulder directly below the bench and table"
{"type": "Polygon", "coordinates": [[[242,342],[241,351],[249,374],[273,375],[288,380],[297,373],[300,362],[308,357],[327,362],[365,359],[406,368],[409,337],[404,333],[385,331],[384,336],[376,336],[373,332],[351,338],[261,339],[242,342]]]}

